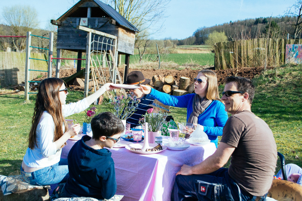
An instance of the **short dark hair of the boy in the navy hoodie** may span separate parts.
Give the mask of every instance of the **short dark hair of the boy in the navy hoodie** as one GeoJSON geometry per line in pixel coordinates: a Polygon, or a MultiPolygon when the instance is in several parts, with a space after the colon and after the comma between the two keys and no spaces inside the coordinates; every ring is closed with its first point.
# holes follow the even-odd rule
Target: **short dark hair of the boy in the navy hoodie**
{"type": "Polygon", "coordinates": [[[102,112],[91,120],[92,139],[110,137],[124,131],[123,122],[111,112],[102,112]]]}

